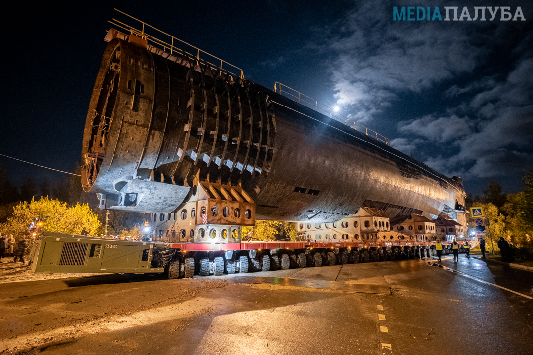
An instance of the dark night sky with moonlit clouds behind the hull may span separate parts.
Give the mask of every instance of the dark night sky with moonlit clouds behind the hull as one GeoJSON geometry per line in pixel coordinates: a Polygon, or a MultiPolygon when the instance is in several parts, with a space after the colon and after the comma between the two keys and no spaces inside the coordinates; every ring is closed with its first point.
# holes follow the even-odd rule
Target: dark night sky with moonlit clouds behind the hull
{"type": "MultiPolygon", "coordinates": [[[[4,8],[0,153],[71,171],[112,18],[124,11],[300,90],[391,139],[467,193],[533,169],[533,6],[520,1],[70,2],[4,8]],[[76,3],[76,4],[75,4],[76,3]],[[393,6],[521,7],[526,21],[393,21],[393,6]]],[[[451,16],[451,15],[450,15],[451,16]]],[[[65,175],[0,156],[15,184],[65,175]]]]}

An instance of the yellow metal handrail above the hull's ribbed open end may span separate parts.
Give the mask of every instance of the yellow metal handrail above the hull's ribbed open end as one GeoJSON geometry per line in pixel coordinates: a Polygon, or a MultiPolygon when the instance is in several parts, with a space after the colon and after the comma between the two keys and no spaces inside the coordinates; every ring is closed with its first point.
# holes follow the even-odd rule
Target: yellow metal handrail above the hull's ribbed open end
{"type": "MultiPolygon", "coordinates": [[[[131,31],[133,31],[136,35],[140,35],[140,37],[142,37],[143,39],[146,39],[147,41],[150,40],[150,42],[155,43],[156,45],[158,45],[158,46],[160,46],[160,47],[163,47],[163,51],[164,51],[164,52],[167,52],[167,51],[169,50],[169,52],[170,52],[169,54],[170,54],[170,55],[174,55],[174,52],[182,53],[182,54],[186,54],[186,55],[189,56],[189,59],[196,59],[196,60],[198,60],[198,61],[205,62],[205,63],[211,65],[212,67],[216,68],[216,69],[220,69],[220,70],[226,71],[226,72],[228,72],[228,73],[230,73],[230,74],[232,74],[232,75],[234,75],[234,76],[238,76],[241,80],[244,80],[244,72],[243,72],[242,69],[240,69],[239,67],[237,67],[237,65],[233,65],[233,64],[231,64],[231,63],[229,63],[229,62],[227,62],[227,61],[225,61],[225,60],[223,60],[223,59],[220,59],[219,57],[217,57],[217,56],[215,56],[215,55],[213,55],[213,54],[207,53],[206,51],[203,51],[202,49],[200,49],[200,48],[198,48],[198,47],[196,47],[196,46],[193,46],[193,45],[191,45],[191,44],[189,44],[189,43],[187,43],[187,42],[184,42],[183,40],[181,40],[181,39],[179,39],[179,38],[176,38],[176,37],[174,37],[174,36],[172,36],[172,35],[169,35],[169,34],[167,34],[166,32],[161,31],[160,29],[155,28],[154,26],[151,26],[150,24],[148,24],[148,23],[146,23],[146,22],[144,22],[144,21],[141,21],[141,20],[139,20],[139,19],[134,18],[134,17],[131,16],[131,15],[128,15],[128,14],[125,13],[125,12],[122,12],[122,11],[120,11],[120,10],[118,10],[118,9],[115,9],[115,11],[117,11],[117,12],[119,12],[119,13],[122,13],[122,14],[128,16],[129,18],[131,18],[131,19],[133,19],[133,20],[135,20],[135,21],[138,21],[138,22],[142,23],[142,28],[141,28],[141,29],[137,29],[137,28],[135,28],[135,27],[130,26],[129,24],[126,24],[126,23],[121,22],[121,21],[116,20],[116,19],[112,19],[112,21],[115,21],[115,22],[118,22],[118,23],[114,23],[114,22],[108,21],[109,23],[111,23],[111,24],[113,24],[113,25],[115,25],[115,26],[117,26],[117,27],[120,27],[120,28],[123,28],[123,29],[126,29],[126,30],[131,30],[131,31]],[[121,25],[122,25],[122,26],[121,26],[121,25]],[[125,26],[125,27],[124,27],[124,26],[125,26]],[[155,37],[155,36],[152,36],[152,35],[147,34],[147,33],[145,32],[145,27],[152,28],[152,29],[156,30],[157,32],[160,32],[160,33],[163,34],[163,35],[166,35],[166,36],[168,36],[168,37],[171,37],[171,43],[167,43],[167,42],[165,42],[164,40],[161,40],[161,39],[159,39],[159,38],[157,38],[157,37],[155,37]],[[175,46],[174,46],[174,40],[177,40],[178,42],[181,42],[181,43],[183,43],[184,45],[187,45],[187,46],[189,46],[189,47],[191,47],[191,48],[194,48],[196,54],[191,54],[191,53],[188,53],[188,52],[184,51],[183,49],[180,49],[180,48],[175,47],[175,46]],[[215,64],[213,64],[213,63],[208,62],[208,61],[205,60],[205,59],[201,59],[201,58],[200,58],[200,52],[203,53],[203,54],[205,54],[205,55],[208,55],[209,57],[212,57],[212,58],[216,59],[217,62],[220,61],[220,65],[215,65],[215,64]],[[223,64],[223,63],[228,64],[230,67],[233,67],[233,68],[237,69],[238,72],[239,72],[239,74],[237,75],[237,74],[235,74],[235,73],[230,72],[230,71],[227,70],[227,69],[222,69],[222,64],[223,64]]],[[[159,49],[161,49],[161,48],[159,48],[159,49]]],[[[167,53],[168,53],[168,52],[167,52],[167,53]]],[[[213,69],[214,69],[214,68],[213,68],[213,69]]]]}

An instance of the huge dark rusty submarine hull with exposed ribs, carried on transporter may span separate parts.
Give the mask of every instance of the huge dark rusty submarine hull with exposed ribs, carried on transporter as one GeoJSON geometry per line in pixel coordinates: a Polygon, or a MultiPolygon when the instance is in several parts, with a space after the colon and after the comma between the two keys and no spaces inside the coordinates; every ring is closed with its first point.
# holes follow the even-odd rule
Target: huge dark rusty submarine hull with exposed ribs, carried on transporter
{"type": "Polygon", "coordinates": [[[125,40],[104,52],[83,140],[100,207],[176,210],[200,182],[239,186],[258,219],[334,222],[360,207],[391,221],[456,219],[461,180],[245,80],[125,40]]]}

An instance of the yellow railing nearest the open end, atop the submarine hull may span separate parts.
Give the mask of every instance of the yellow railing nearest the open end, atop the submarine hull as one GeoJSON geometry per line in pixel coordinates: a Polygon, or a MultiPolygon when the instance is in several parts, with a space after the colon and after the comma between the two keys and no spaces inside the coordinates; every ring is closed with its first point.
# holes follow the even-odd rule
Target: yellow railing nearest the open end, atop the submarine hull
{"type": "MultiPolygon", "coordinates": [[[[122,12],[122,11],[117,10],[117,9],[115,9],[115,10],[117,12],[123,14],[123,15],[128,16],[128,18],[139,22],[138,26],[140,26],[141,28],[135,28],[135,27],[130,26],[129,24],[126,24],[126,23],[124,23],[122,21],[119,21],[117,19],[112,19],[111,21],[108,21],[112,25],[114,25],[116,27],[119,27],[119,28],[122,28],[122,29],[125,29],[127,31],[130,31],[132,34],[134,34],[134,35],[136,35],[138,37],[141,37],[142,39],[147,40],[147,42],[149,42],[151,46],[153,46],[153,47],[155,47],[157,49],[160,49],[161,51],[167,53],[170,56],[185,56],[185,57],[188,57],[189,60],[191,60],[191,61],[198,61],[199,63],[201,63],[203,65],[207,65],[207,66],[211,67],[212,69],[220,70],[221,74],[222,73],[229,73],[230,75],[235,76],[235,78],[240,78],[241,80],[244,80],[243,70],[240,69],[239,67],[237,67],[236,65],[228,63],[227,61],[222,60],[222,59],[220,59],[219,57],[217,57],[217,56],[215,56],[213,54],[207,53],[207,52],[201,50],[198,47],[195,47],[195,46],[193,46],[193,45],[191,45],[191,44],[189,44],[187,42],[184,42],[183,40],[181,40],[179,38],[176,38],[176,37],[174,37],[172,35],[169,35],[166,32],[155,28],[154,26],[150,26],[150,24],[148,24],[146,22],[143,22],[143,21],[141,21],[139,19],[136,19],[133,16],[128,15],[125,12],[122,12]],[[161,35],[167,36],[168,39],[166,41],[163,40],[163,39],[159,39],[158,37],[156,37],[154,35],[148,34],[147,31],[155,32],[155,34],[157,36],[161,36],[161,35]],[[168,41],[170,43],[168,43],[168,41]],[[192,54],[192,53],[189,53],[187,51],[184,51],[183,49],[175,47],[174,46],[175,42],[179,42],[182,45],[185,45],[185,46],[188,46],[189,48],[192,48],[193,50],[191,52],[196,52],[196,53],[192,54]],[[205,60],[205,59],[201,58],[200,55],[207,56],[208,59],[211,60],[211,61],[216,60],[217,64],[214,64],[212,62],[209,62],[208,60],[205,60]],[[233,72],[231,72],[228,69],[223,69],[222,67],[223,67],[224,64],[225,64],[225,67],[231,67],[232,68],[231,70],[236,70],[238,72],[238,74],[233,73],[233,72]]],[[[191,49],[189,49],[189,50],[191,50],[191,49]]]]}

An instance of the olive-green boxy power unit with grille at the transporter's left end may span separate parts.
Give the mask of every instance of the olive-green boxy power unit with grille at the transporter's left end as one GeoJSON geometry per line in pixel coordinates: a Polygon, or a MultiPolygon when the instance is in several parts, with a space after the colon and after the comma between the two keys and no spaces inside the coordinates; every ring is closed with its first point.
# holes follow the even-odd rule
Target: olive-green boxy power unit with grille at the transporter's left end
{"type": "Polygon", "coordinates": [[[174,253],[158,242],[44,232],[29,259],[35,273],[163,273],[174,253]]]}

